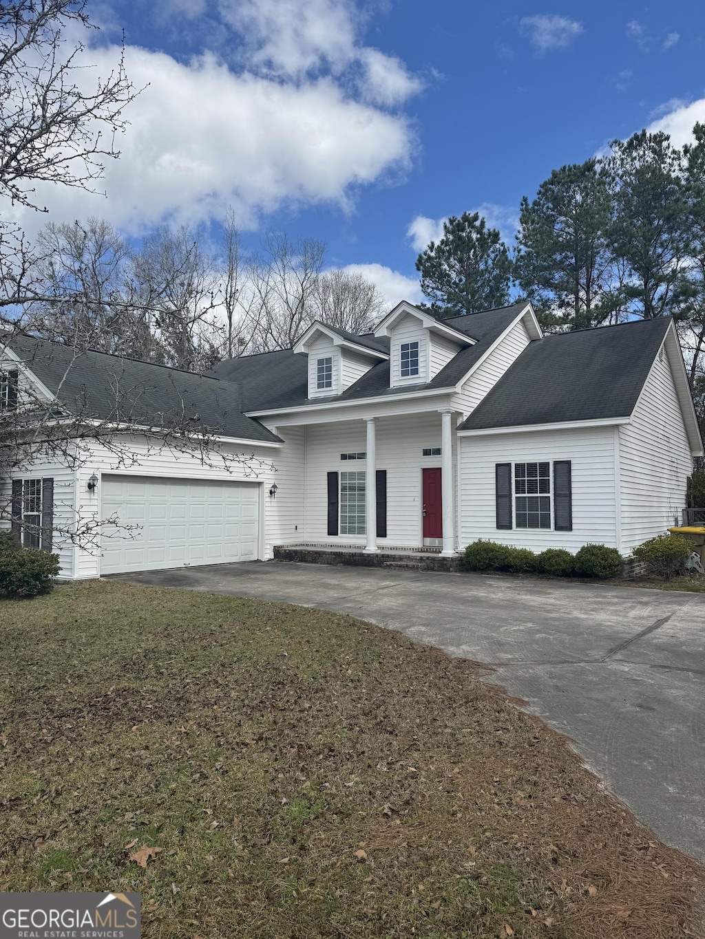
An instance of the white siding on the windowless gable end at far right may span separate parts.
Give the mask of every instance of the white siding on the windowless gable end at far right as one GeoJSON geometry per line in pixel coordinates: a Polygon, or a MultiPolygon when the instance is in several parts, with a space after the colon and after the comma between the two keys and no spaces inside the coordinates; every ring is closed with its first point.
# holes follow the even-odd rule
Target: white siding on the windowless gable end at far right
{"type": "MultiPolygon", "coordinates": [[[[667,356],[651,366],[632,421],[619,427],[621,543],[625,550],[663,534],[685,505],[693,469],[667,356]]],[[[679,518],[680,521],[680,518],[679,518]]]]}

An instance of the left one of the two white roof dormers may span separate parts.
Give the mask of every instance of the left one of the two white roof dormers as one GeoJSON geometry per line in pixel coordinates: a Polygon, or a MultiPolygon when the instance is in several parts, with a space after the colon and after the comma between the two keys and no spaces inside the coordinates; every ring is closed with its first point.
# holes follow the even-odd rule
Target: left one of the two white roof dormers
{"type": "Polygon", "coordinates": [[[333,397],[350,388],[376,362],[389,356],[357,341],[349,332],[313,323],[293,347],[308,356],[308,397],[333,397]]]}

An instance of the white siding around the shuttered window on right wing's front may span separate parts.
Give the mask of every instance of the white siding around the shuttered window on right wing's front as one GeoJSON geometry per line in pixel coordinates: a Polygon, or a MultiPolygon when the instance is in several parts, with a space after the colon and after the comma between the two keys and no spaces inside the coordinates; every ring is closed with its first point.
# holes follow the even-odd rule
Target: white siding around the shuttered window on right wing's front
{"type": "MultiPolygon", "coordinates": [[[[461,441],[461,547],[478,538],[534,551],[546,547],[576,551],[587,544],[618,546],[613,427],[490,434],[461,441]],[[554,460],[572,462],[572,531],[498,530],[495,464],[554,460]]],[[[551,475],[553,487],[553,471],[551,475]]],[[[551,508],[553,514],[553,504],[551,508]]]]}

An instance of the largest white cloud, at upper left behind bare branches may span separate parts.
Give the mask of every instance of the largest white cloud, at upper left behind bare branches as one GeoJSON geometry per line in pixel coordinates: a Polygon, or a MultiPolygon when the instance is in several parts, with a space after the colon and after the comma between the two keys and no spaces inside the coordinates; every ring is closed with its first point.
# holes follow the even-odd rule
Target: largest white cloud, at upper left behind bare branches
{"type": "MultiPolygon", "coordinates": [[[[93,74],[104,74],[118,54],[85,56],[93,74]]],[[[228,205],[243,225],[287,204],[346,207],[355,187],[405,170],[415,151],[403,115],[356,100],[331,75],[273,80],[235,73],[213,54],[183,64],[135,47],[126,65],[146,87],[127,111],[120,159],[99,181],[107,198],[38,186],[55,221],[100,215],[136,232],[164,219],[222,217],[228,205]]],[[[10,214],[30,232],[46,221],[19,208],[10,214]]]]}

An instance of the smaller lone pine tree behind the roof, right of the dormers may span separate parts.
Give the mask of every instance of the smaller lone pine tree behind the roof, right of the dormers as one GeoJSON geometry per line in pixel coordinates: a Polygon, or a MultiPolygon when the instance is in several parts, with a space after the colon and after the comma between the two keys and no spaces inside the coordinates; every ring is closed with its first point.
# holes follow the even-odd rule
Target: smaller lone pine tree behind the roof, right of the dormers
{"type": "Polygon", "coordinates": [[[509,300],[511,262],[507,245],[478,212],[443,223],[443,237],[416,258],[421,290],[434,316],[464,316],[509,300]]]}

